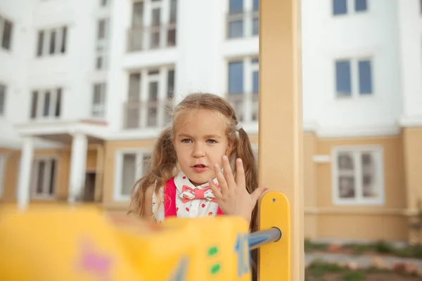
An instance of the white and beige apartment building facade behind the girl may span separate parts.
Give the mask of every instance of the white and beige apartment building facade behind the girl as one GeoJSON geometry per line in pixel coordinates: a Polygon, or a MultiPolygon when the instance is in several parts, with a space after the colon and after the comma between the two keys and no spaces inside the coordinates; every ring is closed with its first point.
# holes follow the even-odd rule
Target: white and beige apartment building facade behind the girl
{"type": "MultiPolygon", "coordinates": [[[[1,202],[127,211],[192,92],[227,98],[259,145],[258,2],[1,4],[1,202]]],[[[420,2],[302,1],[306,237],[420,235],[420,2]]]]}

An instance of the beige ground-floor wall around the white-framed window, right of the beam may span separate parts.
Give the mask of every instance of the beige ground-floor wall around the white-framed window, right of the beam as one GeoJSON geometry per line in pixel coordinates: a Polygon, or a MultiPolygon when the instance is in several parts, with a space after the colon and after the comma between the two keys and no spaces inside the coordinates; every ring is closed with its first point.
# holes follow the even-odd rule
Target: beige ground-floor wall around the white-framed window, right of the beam
{"type": "Polygon", "coordinates": [[[402,136],[316,139],[305,134],[305,236],[350,239],[407,240],[407,192],[402,136]],[[314,155],[331,155],[338,145],[381,145],[385,204],[335,206],[331,163],[314,163],[314,155]]]}

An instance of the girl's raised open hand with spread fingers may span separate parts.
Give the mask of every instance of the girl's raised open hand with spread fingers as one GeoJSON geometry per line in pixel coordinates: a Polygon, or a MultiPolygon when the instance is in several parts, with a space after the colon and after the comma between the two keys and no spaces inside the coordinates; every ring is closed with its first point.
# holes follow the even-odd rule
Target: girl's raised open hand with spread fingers
{"type": "Polygon", "coordinates": [[[252,210],[257,204],[258,198],[268,188],[260,187],[249,194],[248,190],[246,190],[245,170],[243,169],[242,160],[240,158],[236,159],[236,181],[226,155],[223,156],[222,160],[224,175],[219,164],[214,165],[220,189],[217,188],[217,185],[212,180],[209,181],[210,188],[214,192],[217,203],[224,214],[242,216],[250,223],[252,210]]]}

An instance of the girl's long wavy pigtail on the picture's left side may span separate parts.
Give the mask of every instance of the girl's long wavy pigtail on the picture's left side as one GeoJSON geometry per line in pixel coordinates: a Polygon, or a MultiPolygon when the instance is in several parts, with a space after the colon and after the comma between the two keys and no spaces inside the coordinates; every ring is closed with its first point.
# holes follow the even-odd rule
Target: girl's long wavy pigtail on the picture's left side
{"type": "MultiPolygon", "coordinates": [[[[172,129],[168,127],[158,137],[153,149],[150,168],[145,176],[134,184],[131,192],[131,203],[129,214],[143,215],[143,204],[146,190],[151,186],[157,187],[165,183],[174,176],[177,164],[176,151],[172,143],[172,129]]],[[[155,194],[159,195],[159,189],[155,189],[155,194]]]]}

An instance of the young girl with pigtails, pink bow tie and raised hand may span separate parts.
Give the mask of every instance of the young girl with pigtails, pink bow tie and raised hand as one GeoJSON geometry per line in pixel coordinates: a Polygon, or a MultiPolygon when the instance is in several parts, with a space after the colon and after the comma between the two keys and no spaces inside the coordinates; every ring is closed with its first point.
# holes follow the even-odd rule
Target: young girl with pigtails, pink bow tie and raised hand
{"type": "Polygon", "coordinates": [[[174,108],[171,126],[155,143],[151,168],[134,185],[129,212],[159,222],[237,215],[253,231],[256,203],[266,189],[257,186],[248,134],[238,127],[233,108],[219,96],[195,93],[174,108]]]}

